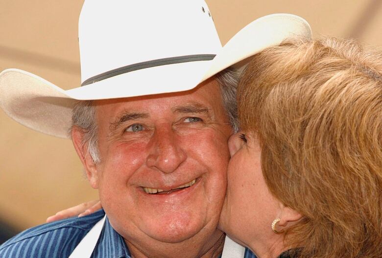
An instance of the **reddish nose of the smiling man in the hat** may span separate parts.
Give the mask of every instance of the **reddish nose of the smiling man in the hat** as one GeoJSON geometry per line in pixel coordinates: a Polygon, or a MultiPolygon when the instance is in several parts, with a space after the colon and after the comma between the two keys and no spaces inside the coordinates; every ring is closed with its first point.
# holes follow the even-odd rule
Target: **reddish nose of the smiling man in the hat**
{"type": "Polygon", "coordinates": [[[154,131],[148,151],[147,166],[165,173],[174,172],[187,158],[179,135],[171,126],[161,126],[154,131]]]}

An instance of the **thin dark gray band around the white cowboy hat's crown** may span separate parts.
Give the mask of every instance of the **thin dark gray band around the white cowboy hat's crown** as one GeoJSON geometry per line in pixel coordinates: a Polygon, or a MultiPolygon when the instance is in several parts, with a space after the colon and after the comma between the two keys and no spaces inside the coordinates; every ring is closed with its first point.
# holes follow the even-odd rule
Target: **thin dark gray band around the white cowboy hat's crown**
{"type": "Polygon", "coordinates": [[[202,55],[188,55],[188,56],[178,56],[178,57],[169,57],[169,58],[161,58],[151,61],[145,61],[137,64],[129,64],[123,67],[119,67],[117,69],[113,69],[98,75],[95,75],[87,80],[85,80],[81,86],[89,85],[95,82],[102,81],[104,79],[117,76],[122,73],[128,73],[140,69],[166,65],[166,64],[179,64],[186,62],[195,62],[195,61],[210,61],[213,60],[216,55],[212,54],[202,54],[202,55]]]}

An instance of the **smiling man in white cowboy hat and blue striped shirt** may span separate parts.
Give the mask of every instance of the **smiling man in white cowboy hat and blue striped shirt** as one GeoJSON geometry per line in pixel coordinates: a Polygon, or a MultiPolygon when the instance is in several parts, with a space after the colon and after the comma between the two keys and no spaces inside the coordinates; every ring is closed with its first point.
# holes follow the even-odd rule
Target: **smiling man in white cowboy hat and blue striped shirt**
{"type": "Polygon", "coordinates": [[[27,230],[0,257],[219,257],[235,124],[224,69],[295,34],[310,36],[306,21],[273,15],[221,47],[204,1],[85,1],[82,86],[9,69],[0,105],[32,129],[70,131],[104,212],[27,230]]]}

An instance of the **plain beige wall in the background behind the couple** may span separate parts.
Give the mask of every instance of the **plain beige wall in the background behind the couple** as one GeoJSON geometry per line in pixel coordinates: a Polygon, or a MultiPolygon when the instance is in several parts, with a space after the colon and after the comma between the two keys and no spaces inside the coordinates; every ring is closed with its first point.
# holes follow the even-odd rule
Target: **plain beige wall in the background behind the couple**
{"type": "MultiPolygon", "coordinates": [[[[0,0],[0,70],[21,68],[65,89],[80,85],[77,21],[83,0],[0,0]]],[[[293,13],[314,36],[356,37],[381,48],[382,0],[207,0],[222,43],[271,13],[293,13]]],[[[24,229],[94,199],[69,140],[44,135],[0,110],[0,219],[24,229]]]]}

